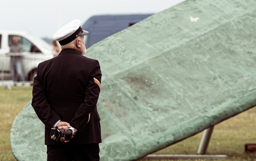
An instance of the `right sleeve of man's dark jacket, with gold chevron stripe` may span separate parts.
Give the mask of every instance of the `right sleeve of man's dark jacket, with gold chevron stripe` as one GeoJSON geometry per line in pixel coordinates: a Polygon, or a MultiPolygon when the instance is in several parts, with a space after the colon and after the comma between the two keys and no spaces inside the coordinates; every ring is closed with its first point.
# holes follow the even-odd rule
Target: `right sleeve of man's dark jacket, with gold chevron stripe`
{"type": "Polygon", "coordinates": [[[80,132],[84,131],[84,128],[88,122],[88,115],[96,108],[98,96],[100,95],[100,82],[100,64],[98,63],[98,60],[96,60],[90,72],[90,78],[86,87],[86,97],[84,102],[81,103],[75,112],[75,117],[70,122],[71,126],[80,132]]]}

